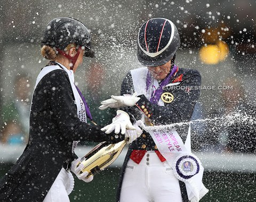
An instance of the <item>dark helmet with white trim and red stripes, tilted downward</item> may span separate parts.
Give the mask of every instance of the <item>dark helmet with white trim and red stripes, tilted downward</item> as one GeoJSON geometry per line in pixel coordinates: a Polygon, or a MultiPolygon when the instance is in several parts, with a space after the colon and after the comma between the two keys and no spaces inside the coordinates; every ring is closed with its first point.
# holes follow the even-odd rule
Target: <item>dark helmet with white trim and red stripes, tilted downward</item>
{"type": "Polygon", "coordinates": [[[171,20],[150,19],[139,30],[137,57],[145,66],[163,65],[172,58],[174,62],[179,46],[179,32],[171,20]]]}

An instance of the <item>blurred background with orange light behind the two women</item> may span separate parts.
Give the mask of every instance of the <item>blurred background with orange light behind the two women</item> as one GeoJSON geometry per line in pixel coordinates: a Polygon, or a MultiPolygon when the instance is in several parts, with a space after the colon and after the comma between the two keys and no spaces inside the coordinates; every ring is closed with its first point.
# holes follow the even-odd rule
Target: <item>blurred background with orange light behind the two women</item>
{"type": "MultiPolygon", "coordinates": [[[[100,102],[119,95],[126,72],[141,67],[136,56],[140,26],[163,17],[179,29],[176,64],[202,75],[191,131],[210,190],[202,201],[256,201],[255,7],[250,0],[1,1],[0,177],[27,143],[31,97],[47,63],[40,41],[50,20],[69,16],[91,30],[97,57],[84,58],[75,80],[95,122],[106,125],[115,111],[99,111],[100,102]]],[[[83,156],[92,146],[77,152],[83,156]]],[[[70,200],[114,201],[124,155],[91,183],[76,180],[70,200]]]]}

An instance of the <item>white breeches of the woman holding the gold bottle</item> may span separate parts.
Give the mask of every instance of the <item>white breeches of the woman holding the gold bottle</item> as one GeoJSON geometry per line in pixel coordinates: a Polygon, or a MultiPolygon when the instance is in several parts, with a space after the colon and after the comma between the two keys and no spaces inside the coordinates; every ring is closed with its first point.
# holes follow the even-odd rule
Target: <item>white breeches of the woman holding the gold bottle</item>
{"type": "Polygon", "coordinates": [[[43,202],[70,202],[68,195],[73,187],[74,178],[72,174],[62,167],[43,202]]]}

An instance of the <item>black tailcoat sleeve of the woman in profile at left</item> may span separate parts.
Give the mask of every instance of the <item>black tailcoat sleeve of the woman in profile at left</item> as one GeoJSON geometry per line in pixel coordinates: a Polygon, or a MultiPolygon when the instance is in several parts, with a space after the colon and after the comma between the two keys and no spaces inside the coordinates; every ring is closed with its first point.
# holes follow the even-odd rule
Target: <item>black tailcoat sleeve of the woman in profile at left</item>
{"type": "Polygon", "coordinates": [[[106,134],[99,126],[81,122],[77,116],[75,98],[70,85],[68,74],[63,70],[55,70],[44,79],[47,86],[52,113],[55,114],[63,138],[67,140],[81,140],[115,143],[124,139],[121,133],[118,137],[114,132],[106,134]]]}

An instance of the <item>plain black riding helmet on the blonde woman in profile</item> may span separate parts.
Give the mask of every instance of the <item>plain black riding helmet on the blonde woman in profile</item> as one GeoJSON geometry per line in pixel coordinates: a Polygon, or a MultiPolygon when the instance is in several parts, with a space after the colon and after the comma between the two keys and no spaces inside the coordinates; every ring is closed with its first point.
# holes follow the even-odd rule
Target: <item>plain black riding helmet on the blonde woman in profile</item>
{"type": "Polygon", "coordinates": [[[94,57],[90,41],[90,31],[81,21],[60,17],[47,24],[41,46],[48,45],[64,50],[69,44],[75,43],[77,46],[84,47],[84,56],[94,57]]]}

